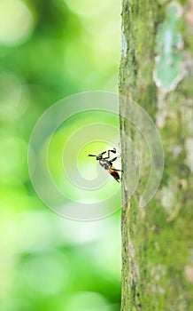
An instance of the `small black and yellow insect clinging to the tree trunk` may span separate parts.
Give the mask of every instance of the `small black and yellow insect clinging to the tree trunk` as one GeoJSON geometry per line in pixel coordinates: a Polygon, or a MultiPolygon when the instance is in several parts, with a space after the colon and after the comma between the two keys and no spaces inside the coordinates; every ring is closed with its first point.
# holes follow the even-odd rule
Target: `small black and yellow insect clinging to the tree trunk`
{"type": "MultiPolygon", "coordinates": [[[[108,156],[104,157],[104,154],[107,151],[102,152],[101,154],[97,155],[97,161],[100,163],[100,165],[104,168],[104,170],[108,171],[112,177],[117,180],[118,182],[120,182],[120,174],[118,171],[121,170],[117,170],[114,168],[114,166],[112,165],[112,162],[114,162],[115,160],[117,160],[118,157],[120,156],[116,156],[114,157],[112,160],[108,160],[110,158],[110,153],[112,152],[113,154],[116,154],[116,149],[113,148],[113,150],[108,150],[108,156]]],[[[94,155],[89,155],[89,156],[94,156],[94,155]]]]}

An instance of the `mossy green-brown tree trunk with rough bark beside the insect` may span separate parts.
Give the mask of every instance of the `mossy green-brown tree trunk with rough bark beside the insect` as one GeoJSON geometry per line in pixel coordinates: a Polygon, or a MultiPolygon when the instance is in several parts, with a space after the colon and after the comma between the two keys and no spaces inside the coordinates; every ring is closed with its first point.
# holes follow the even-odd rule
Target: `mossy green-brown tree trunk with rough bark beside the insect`
{"type": "MultiPolygon", "coordinates": [[[[127,159],[134,155],[122,135],[121,310],[190,311],[193,310],[193,1],[123,0],[122,32],[120,94],[143,106],[157,124],[165,149],[165,170],[157,194],[148,206],[140,209],[139,196],[149,175],[144,163],[139,187],[127,203],[130,162],[127,159]],[[177,10],[174,19],[170,16],[171,4],[177,10]],[[172,29],[169,47],[165,26],[172,29]],[[168,68],[172,71],[167,72],[168,68]]],[[[127,102],[120,100],[120,115],[123,111],[127,111],[127,102]]],[[[120,127],[140,148],[139,134],[121,116],[120,127]]]]}

